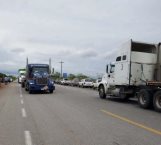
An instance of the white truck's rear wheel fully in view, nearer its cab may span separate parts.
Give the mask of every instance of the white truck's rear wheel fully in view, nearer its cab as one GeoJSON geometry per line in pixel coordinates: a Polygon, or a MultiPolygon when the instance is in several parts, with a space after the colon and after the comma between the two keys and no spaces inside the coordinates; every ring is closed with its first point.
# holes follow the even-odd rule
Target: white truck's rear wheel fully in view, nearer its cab
{"type": "Polygon", "coordinates": [[[138,103],[141,108],[148,109],[152,105],[152,95],[149,91],[142,89],[138,94],[138,103]]]}

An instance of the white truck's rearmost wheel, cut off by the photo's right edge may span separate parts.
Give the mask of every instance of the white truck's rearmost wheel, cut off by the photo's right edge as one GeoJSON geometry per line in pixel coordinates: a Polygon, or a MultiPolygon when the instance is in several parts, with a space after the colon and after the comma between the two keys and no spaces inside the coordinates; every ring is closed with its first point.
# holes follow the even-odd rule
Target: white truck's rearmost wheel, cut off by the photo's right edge
{"type": "Polygon", "coordinates": [[[161,91],[157,91],[153,98],[154,109],[161,112],[161,91]]]}

